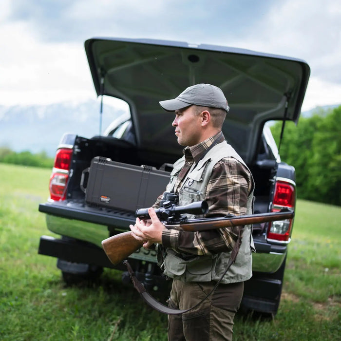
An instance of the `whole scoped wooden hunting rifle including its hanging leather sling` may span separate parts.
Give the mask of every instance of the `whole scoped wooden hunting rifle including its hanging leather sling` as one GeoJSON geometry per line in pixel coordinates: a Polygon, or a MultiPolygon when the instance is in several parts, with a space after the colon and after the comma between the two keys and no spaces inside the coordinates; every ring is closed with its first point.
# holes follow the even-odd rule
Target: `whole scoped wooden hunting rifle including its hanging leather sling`
{"type": "MultiPolygon", "coordinates": [[[[167,193],[167,192],[165,192],[167,193]]],[[[169,197],[171,197],[170,195],[169,197]]],[[[252,214],[252,215],[244,215],[244,216],[233,216],[228,215],[223,218],[198,218],[198,219],[187,219],[187,217],[182,216],[183,213],[189,213],[194,215],[205,214],[208,211],[208,204],[205,201],[194,202],[185,206],[176,206],[176,196],[174,197],[174,201],[166,200],[160,202],[160,208],[156,209],[155,212],[160,220],[164,220],[163,224],[167,228],[177,228],[184,231],[205,231],[214,228],[222,228],[222,227],[233,227],[233,226],[243,226],[243,225],[251,225],[257,223],[266,223],[274,220],[284,220],[291,219],[294,217],[294,211],[291,211],[287,208],[282,209],[279,212],[273,213],[263,213],[263,214],[252,214]]],[[[168,196],[166,195],[166,198],[168,196]]],[[[141,208],[136,211],[136,216],[140,219],[148,219],[148,208],[141,208]]],[[[150,295],[144,285],[138,281],[136,278],[134,271],[127,260],[124,260],[133,252],[138,250],[143,242],[137,241],[132,237],[132,232],[123,232],[116,234],[112,237],[109,237],[102,241],[102,246],[107,254],[110,261],[116,265],[122,260],[123,263],[127,266],[128,272],[130,274],[131,280],[135,289],[141,295],[141,298],[148,303],[155,310],[168,314],[168,315],[178,315],[188,312],[192,310],[199,304],[201,304],[204,300],[208,298],[214,292],[220,281],[223,279],[225,274],[227,273],[228,268],[235,261],[239,246],[241,243],[241,231],[238,233],[238,240],[231,251],[230,258],[228,260],[225,272],[223,273],[221,279],[215,284],[213,289],[206,295],[206,297],[199,303],[195,304],[193,307],[180,310],[168,307],[157,300],[155,300],[152,295],[150,295]]]]}

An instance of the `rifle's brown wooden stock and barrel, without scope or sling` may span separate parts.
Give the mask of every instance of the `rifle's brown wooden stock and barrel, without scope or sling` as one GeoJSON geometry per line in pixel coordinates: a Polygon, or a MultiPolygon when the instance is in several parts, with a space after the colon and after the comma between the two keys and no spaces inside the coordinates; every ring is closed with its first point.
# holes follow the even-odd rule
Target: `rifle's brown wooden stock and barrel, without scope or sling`
{"type": "MultiPolygon", "coordinates": [[[[223,218],[202,218],[189,219],[179,224],[163,224],[167,228],[176,228],[184,231],[205,231],[223,227],[244,226],[251,224],[267,223],[275,220],[292,219],[294,211],[284,209],[279,212],[260,213],[242,216],[231,216],[223,218]]],[[[143,245],[142,242],[137,241],[131,231],[118,233],[102,241],[104,252],[109,260],[117,265],[124,259],[128,258],[133,252],[137,251],[143,245]]]]}

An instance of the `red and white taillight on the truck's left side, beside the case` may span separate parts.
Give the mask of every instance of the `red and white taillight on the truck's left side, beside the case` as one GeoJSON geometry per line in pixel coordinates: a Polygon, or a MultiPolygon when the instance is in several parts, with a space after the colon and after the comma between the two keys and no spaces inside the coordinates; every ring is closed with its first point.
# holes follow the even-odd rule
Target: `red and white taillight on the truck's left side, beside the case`
{"type": "Polygon", "coordinates": [[[66,185],[69,179],[72,149],[60,148],[57,150],[55,164],[50,177],[50,198],[65,200],[66,185]]]}

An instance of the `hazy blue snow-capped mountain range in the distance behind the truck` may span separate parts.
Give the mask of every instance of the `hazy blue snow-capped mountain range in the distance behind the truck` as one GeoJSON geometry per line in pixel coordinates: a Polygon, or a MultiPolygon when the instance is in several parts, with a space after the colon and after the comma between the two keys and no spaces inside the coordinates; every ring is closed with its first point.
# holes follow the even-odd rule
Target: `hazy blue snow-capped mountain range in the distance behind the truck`
{"type": "MultiPolygon", "coordinates": [[[[318,107],[323,110],[337,106],[318,107]]],[[[303,112],[308,117],[314,111],[303,112]]],[[[124,109],[103,105],[102,132],[124,109]]],[[[99,134],[100,103],[98,100],[61,102],[49,105],[0,106],[0,148],[15,152],[46,152],[53,157],[64,133],[83,137],[99,134]]]]}

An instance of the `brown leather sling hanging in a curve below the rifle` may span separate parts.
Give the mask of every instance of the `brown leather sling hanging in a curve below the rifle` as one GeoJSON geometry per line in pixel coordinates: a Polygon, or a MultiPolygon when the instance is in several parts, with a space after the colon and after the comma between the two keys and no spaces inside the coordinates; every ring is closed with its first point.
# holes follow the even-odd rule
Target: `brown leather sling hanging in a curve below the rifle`
{"type": "Polygon", "coordinates": [[[152,297],[152,295],[147,292],[145,286],[136,278],[135,273],[133,272],[133,269],[132,269],[131,265],[128,263],[128,261],[124,260],[123,264],[125,264],[128,268],[128,273],[130,275],[130,278],[133,282],[135,289],[137,290],[137,292],[141,295],[142,299],[147,304],[149,304],[153,309],[159,311],[160,313],[164,313],[164,314],[168,314],[168,315],[180,315],[180,314],[188,312],[189,310],[194,309],[195,307],[197,307],[198,305],[203,303],[214,292],[214,290],[218,287],[218,285],[220,284],[220,282],[222,281],[222,279],[226,275],[230,266],[235,262],[241,243],[242,243],[242,231],[239,230],[238,239],[237,239],[237,241],[236,241],[236,243],[235,243],[235,245],[231,251],[230,258],[229,258],[228,263],[227,263],[227,267],[226,267],[223,275],[221,276],[221,278],[218,280],[218,282],[214,285],[213,289],[206,295],[205,298],[203,298],[199,303],[195,304],[191,308],[185,309],[185,310],[173,309],[173,308],[170,308],[169,306],[164,305],[164,304],[160,303],[159,301],[155,300],[152,297]]]}

